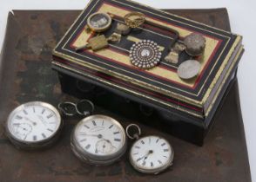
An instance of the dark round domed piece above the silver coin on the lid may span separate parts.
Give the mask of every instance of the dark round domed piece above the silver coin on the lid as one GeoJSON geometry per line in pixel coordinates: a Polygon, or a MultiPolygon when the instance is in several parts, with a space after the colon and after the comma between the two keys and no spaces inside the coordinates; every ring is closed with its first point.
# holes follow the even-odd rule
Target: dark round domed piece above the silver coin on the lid
{"type": "Polygon", "coordinates": [[[184,44],[186,47],[185,52],[188,55],[202,55],[205,50],[205,37],[199,34],[192,33],[188,36],[185,36],[184,44]]]}

